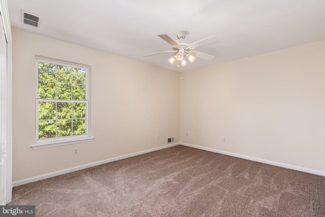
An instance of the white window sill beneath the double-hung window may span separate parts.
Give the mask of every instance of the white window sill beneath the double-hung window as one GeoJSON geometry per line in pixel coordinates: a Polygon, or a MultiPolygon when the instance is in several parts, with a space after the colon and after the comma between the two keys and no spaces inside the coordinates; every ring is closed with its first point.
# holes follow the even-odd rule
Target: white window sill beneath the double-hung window
{"type": "Polygon", "coordinates": [[[83,142],[91,142],[94,137],[92,136],[84,136],[78,138],[64,138],[64,139],[55,139],[55,140],[47,140],[47,141],[37,141],[35,144],[31,145],[31,149],[40,149],[40,148],[50,148],[61,145],[70,145],[76,143],[83,142]]]}

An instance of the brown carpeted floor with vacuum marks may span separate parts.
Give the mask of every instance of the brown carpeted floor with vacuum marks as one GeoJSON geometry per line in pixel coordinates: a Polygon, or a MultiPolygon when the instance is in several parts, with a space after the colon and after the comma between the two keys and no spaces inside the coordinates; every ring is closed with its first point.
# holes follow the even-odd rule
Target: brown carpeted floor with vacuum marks
{"type": "Polygon", "coordinates": [[[37,216],[325,216],[325,177],[186,146],[14,188],[37,216]]]}

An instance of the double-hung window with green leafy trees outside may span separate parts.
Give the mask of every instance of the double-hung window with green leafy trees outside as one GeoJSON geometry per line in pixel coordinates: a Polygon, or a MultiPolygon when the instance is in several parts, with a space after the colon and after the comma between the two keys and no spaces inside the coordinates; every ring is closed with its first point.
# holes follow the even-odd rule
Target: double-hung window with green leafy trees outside
{"type": "Polygon", "coordinates": [[[36,140],[32,146],[89,139],[88,67],[36,59],[36,140]]]}

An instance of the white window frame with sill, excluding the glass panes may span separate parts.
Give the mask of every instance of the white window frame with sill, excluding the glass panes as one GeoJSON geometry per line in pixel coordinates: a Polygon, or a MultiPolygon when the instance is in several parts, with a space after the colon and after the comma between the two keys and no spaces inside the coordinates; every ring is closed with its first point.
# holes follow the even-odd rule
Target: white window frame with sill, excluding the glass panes
{"type": "MultiPolygon", "coordinates": [[[[35,59],[35,68],[36,68],[36,104],[35,104],[35,110],[36,110],[36,131],[35,131],[35,144],[31,145],[32,149],[39,149],[39,148],[47,148],[47,147],[53,147],[53,146],[60,146],[60,145],[69,145],[74,143],[81,143],[81,142],[90,142],[94,138],[90,136],[90,127],[89,127],[89,66],[85,66],[82,64],[75,64],[75,63],[67,63],[66,61],[62,60],[51,60],[47,58],[41,58],[36,57],[35,59]],[[53,99],[40,99],[38,98],[38,63],[48,63],[53,65],[60,65],[60,66],[67,66],[72,68],[78,68],[78,69],[84,69],[86,71],[86,99],[85,100],[53,100],[53,99]],[[71,136],[64,136],[64,137],[55,137],[55,138],[46,138],[46,139],[39,139],[39,102],[68,102],[68,103],[85,103],[86,104],[86,116],[85,116],[85,122],[86,122],[86,134],[83,135],[71,135],[71,136]]],[[[61,82],[60,82],[61,83],[61,82]]],[[[57,115],[57,114],[55,114],[57,115]]],[[[57,119],[57,118],[56,118],[57,119]]],[[[70,119],[70,118],[69,118],[70,119]]],[[[72,118],[73,119],[73,116],[72,118]]],[[[83,119],[83,118],[80,118],[83,119]]]]}

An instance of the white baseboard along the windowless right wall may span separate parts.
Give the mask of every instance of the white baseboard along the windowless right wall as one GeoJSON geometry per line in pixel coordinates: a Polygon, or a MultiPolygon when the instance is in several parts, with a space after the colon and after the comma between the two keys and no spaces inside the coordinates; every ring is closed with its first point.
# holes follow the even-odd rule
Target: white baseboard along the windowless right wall
{"type": "Polygon", "coordinates": [[[187,143],[183,143],[183,142],[181,142],[180,144],[184,145],[184,146],[192,147],[192,148],[199,148],[199,149],[202,149],[202,150],[207,150],[207,151],[212,151],[212,152],[216,152],[216,153],[226,154],[226,155],[229,155],[229,156],[233,156],[233,157],[237,157],[237,158],[243,158],[243,159],[246,159],[246,160],[256,161],[256,162],[260,162],[260,163],[264,163],[264,164],[270,164],[270,165],[274,165],[274,166],[278,166],[278,167],[284,167],[284,168],[287,168],[287,169],[293,169],[293,170],[298,170],[298,171],[302,171],[302,172],[306,172],[306,173],[312,173],[312,174],[316,174],[316,175],[325,176],[324,171],[309,169],[309,168],[305,168],[305,167],[298,167],[298,166],[294,166],[294,165],[290,165],[290,164],[283,164],[283,163],[279,163],[279,162],[274,162],[274,161],[264,160],[264,159],[260,159],[260,158],[249,157],[249,156],[245,156],[245,155],[242,155],[242,154],[232,153],[232,152],[228,152],[228,151],[221,151],[221,150],[217,150],[217,149],[213,149],[213,148],[207,148],[207,147],[187,144],[187,143]]]}

